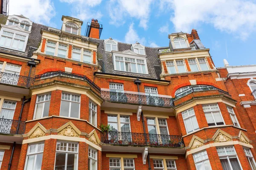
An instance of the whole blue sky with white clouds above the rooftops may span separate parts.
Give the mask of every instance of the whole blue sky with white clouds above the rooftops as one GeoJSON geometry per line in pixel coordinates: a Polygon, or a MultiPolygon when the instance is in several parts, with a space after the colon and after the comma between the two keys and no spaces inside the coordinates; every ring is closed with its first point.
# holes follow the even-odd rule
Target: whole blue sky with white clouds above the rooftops
{"type": "Polygon", "coordinates": [[[61,16],[87,22],[98,19],[101,39],[157,47],[168,46],[168,34],[198,31],[216,67],[256,64],[255,0],[9,0],[9,14],[61,28],[61,16]],[[227,47],[227,48],[226,48],[227,47]]]}

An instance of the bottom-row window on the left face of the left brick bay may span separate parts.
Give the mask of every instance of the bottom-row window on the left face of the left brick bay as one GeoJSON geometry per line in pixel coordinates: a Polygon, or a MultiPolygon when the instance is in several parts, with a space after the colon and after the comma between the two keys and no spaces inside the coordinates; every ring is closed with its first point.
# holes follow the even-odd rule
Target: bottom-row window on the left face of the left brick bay
{"type": "Polygon", "coordinates": [[[30,144],[26,156],[25,170],[41,170],[44,143],[30,144]]]}

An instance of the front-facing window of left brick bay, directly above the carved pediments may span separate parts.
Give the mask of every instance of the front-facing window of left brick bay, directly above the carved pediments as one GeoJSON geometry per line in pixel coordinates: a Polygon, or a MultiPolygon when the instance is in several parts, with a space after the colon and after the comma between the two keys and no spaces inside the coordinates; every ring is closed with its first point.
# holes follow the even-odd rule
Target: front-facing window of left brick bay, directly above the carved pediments
{"type": "Polygon", "coordinates": [[[60,116],[80,117],[80,96],[62,93],[60,116]]]}

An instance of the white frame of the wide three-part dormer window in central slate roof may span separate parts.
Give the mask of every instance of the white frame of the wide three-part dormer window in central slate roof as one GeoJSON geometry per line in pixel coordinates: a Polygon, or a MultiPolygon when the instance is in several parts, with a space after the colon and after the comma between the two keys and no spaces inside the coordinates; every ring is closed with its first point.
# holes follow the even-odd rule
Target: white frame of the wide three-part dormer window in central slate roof
{"type": "MultiPolygon", "coordinates": [[[[143,73],[139,73],[138,68],[141,67],[140,65],[145,65],[145,74],[148,74],[147,61],[146,61],[146,59],[145,59],[144,57],[138,57],[138,56],[135,57],[135,56],[128,55],[128,54],[113,54],[113,55],[112,55],[112,60],[113,60],[113,65],[114,65],[114,70],[115,70],[115,71],[122,71],[122,70],[121,70],[121,64],[123,64],[123,68],[124,68],[124,71],[125,71],[125,72],[131,73],[131,74],[143,74],[143,73]],[[117,68],[116,68],[116,57],[122,57],[122,59],[123,59],[123,60],[117,60],[117,61],[120,61],[120,66],[119,66],[120,69],[119,69],[119,70],[117,70],[117,68]],[[135,62],[133,62],[133,63],[136,64],[136,72],[130,72],[130,71],[127,71],[127,70],[126,70],[126,67],[125,67],[125,58],[135,59],[135,62]],[[137,59],[143,60],[143,61],[144,61],[144,64],[138,62],[137,59]]],[[[126,62],[128,62],[128,61],[126,61],[126,62]]],[[[144,75],[145,75],[145,74],[144,74],[144,75]]]]}

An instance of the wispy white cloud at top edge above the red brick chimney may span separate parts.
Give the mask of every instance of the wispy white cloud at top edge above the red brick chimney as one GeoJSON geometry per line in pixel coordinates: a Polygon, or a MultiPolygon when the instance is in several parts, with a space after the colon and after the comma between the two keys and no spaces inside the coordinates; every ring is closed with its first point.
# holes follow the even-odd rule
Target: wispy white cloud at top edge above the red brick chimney
{"type": "Polygon", "coordinates": [[[63,3],[72,5],[72,16],[80,20],[90,21],[94,18],[99,20],[102,17],[100,11],[92,10],[93,7],[101,4],[102,0],[60,0],[63,3]]]}

